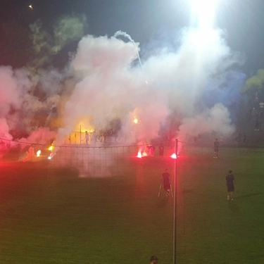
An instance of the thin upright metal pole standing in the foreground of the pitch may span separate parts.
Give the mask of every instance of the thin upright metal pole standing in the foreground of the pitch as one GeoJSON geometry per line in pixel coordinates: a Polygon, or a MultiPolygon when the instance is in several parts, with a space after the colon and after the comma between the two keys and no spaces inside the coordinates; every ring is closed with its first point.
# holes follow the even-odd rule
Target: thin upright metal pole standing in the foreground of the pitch
{"type": "Polygon", "coordinates": [[[177,252],[177,159],[178,159],[178,139],[175,139],[175,161],[174,161],[174,210],[173,210],[173,264],[176,264],[177,252]]]}

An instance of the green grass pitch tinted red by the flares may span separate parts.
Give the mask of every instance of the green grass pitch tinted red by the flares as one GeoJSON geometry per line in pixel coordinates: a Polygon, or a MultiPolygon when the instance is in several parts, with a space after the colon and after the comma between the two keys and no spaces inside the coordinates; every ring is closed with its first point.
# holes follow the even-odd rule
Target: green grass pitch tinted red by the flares
{"type": "MultiPolygon", "coordinates": [[[[79,178],[47,163],[1,163],[0,263],[172,263],[173,199],[158,199],[170,158],[127,175],[79,178]]],[[[177,160],[177,263],[264,263],[264,150],[177,160]],[[235,199],[227,201],[232,169],[235,199]]]]}

